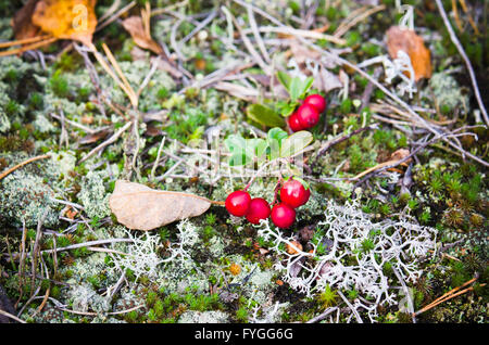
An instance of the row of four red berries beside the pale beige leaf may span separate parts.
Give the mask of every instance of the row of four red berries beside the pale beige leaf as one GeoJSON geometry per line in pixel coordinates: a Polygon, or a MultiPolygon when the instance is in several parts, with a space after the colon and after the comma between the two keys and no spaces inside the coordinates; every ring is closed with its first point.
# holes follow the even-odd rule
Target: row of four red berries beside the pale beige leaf
{"type": "Polygon", "coordinates": [[[271,208],[263,197],[251,199],[247,191],[235,191],[226,199],[226,209],[237,217],[246,217],[251,223],[260,223],[261,219],[272,216],[274,225],[281,229],[290,228],[296,221],[296,209],[304,205],[311,196],[310,189],[302,182],[291,178],[280,189],[281,202],[271,208]]]}

